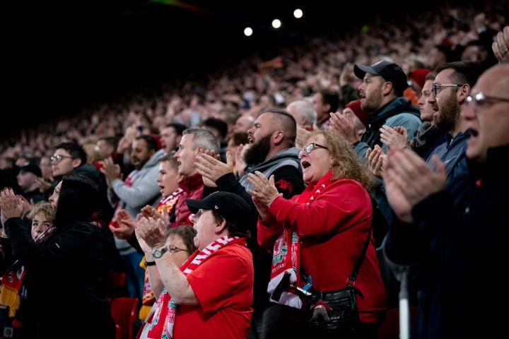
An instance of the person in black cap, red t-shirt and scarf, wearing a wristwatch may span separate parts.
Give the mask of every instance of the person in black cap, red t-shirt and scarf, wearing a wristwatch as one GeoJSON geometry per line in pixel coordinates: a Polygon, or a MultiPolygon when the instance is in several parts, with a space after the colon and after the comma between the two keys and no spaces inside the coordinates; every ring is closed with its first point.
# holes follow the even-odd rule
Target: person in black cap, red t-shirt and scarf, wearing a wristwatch
{"type": "Polygon", "coordinates": [[[254,268],[246,220],[254,210],[229,192],[185,202],[198,249],[180,267],[167,254],[179,249],[165,245],[163,220],[143,217],[136,224],[146,260],[156,263],[149,266],[151,284],[163,284],[168,294],[151,338],[247,338],[254,268]]]}

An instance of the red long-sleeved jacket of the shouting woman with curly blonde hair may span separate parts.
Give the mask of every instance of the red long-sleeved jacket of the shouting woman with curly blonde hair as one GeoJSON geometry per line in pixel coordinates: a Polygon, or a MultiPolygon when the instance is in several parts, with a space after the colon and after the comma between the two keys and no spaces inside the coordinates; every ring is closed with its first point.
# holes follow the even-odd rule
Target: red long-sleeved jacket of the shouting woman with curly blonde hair
{"type": "MultiPolygon", "coordinates": [[[[325,174],[316,186],[308,185],[291,200],[276,198],[269,208],[272,217],[258,222],[258,242],[269,251],[283,227],[297,232],[301,273],[311,275],[312,286],[321,291],[346,285],[368,237],[372,215],[370,196],[361,184],[351,179],[331,182],[331,175],[325,174]],[[325,187],[315,193],[322,184],[325,187]]],[[[380,321],[387,295],[373,237],[355,285],[364,295],[357,299],[361,321],[380,321]]]]}

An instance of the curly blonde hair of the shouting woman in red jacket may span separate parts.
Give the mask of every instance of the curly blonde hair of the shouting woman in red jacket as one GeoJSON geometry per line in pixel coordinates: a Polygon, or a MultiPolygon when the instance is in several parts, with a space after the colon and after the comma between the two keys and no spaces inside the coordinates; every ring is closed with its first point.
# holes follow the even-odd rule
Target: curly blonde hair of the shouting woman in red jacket
{"type": "Polygon", "coordinates": [[[332,155],[332,181],[337,179],[353,179],[359,182],[368,191],[373,194],[375,188],[375,178],[371,174],[368,166],[353,150],[351,143],[344,136],[331,129],[316,129],[306,136],[304,143],[314,136],[324,136],[325,145],[332,155]]]}

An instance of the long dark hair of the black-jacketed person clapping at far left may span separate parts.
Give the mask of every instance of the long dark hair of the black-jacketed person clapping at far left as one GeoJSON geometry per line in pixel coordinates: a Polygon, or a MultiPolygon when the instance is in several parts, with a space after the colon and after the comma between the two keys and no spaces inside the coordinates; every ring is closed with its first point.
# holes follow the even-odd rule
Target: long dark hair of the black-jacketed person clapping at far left
{"type": "Polygon", "coordinates": [[[54,225],[62,227],[72,221],[91,222],[99,209],[98,186],[83,174],[67,174],[62,178],[54,225]]]}

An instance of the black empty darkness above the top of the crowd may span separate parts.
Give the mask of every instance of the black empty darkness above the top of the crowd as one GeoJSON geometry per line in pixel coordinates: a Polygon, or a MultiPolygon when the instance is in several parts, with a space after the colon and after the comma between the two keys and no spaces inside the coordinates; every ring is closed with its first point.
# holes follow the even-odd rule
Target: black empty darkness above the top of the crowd
{"type": "Polygon", "coordinates": [[[8,130],[175,76],[206,76],[253,52],[401,20],[438,1],[422,2],[395,10],[390,1],[11,1],[3,5],[8,130]],[[300,20],[292,17],[297,7],[300,20]],[[274,17],[280,30],[270,26],[274,17]],[[246,25],[252,37],[243,36],[246,25]]]}

